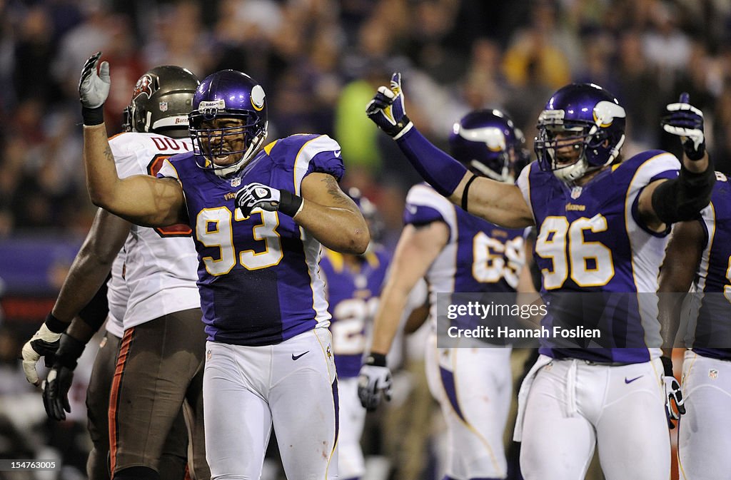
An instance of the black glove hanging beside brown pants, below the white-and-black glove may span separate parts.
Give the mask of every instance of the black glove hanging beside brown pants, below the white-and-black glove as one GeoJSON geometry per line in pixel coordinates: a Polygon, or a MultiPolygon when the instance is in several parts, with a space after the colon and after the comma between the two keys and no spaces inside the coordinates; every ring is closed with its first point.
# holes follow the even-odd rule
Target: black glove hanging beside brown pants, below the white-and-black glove
{"type": "Polygon", "coordinates": [[[56,352],[56,360],[43,382],[43,407],[50,419],[65,420],[71,413],[69,389],[74,380],[74,369],[86,343],[64,333],[56,352]]]}

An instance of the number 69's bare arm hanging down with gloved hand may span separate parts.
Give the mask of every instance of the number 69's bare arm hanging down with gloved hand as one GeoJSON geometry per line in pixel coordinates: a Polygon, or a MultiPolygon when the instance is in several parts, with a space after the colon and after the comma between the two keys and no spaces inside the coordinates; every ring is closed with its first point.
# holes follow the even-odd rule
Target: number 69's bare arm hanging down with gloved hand
{"type": "Polygon", "coordinates": [[[390,370],[386,355],[398,332],[409,294],[447,245],[449,237],[450,230],[442,221],[423,226],[409,224],[401,232],[374,318],[371,353],[360,369],[358,396],[368,410],[375,410],[382,396],[389,400],[390,370]]]}

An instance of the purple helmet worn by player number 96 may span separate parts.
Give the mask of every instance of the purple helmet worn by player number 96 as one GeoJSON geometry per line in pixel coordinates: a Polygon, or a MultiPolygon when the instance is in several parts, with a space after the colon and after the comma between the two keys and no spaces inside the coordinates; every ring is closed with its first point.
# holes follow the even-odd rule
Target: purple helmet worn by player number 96
{"type": "Polygon", "coordinates": [[[624,107],[599,85],[572,83],[559,89],[538,117],[534,148],[539,167],[572,183],[611,164],[624,144],[625,120],[624,107]],[[557,155],[567,145],[578,151],[570,163],[557,155]]]}

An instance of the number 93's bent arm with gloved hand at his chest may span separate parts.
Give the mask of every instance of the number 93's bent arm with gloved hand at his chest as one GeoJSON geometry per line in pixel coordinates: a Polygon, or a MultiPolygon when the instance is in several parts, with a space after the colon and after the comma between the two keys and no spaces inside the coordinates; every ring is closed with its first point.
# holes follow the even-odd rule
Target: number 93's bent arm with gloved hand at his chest
{"type": "Polygon", "coordinates": [[[344,254],[363,254],[371,241],[363,214],[333,175],[314,172],[302,180],[302,197],[262,183],[249,183],[236,194],[243,216],[255,207],[291,216],[319,243],[344,254]]]}

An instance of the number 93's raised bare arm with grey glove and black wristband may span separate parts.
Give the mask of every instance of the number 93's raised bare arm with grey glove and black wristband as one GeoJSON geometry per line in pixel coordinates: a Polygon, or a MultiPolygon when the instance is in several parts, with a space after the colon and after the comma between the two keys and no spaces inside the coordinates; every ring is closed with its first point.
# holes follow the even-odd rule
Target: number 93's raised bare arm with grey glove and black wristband
{"type": "Polygon", "coordinates": [[[83,159],[86,186],[94,205],[143,226],[168,226],[185,221],[183,190],[171,178],[134,175],[120,179],[104,124],[104,102],[110,88],[109,64],[101,52],[86,61],[79,81],[83,116],[83,159]]]}

